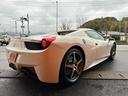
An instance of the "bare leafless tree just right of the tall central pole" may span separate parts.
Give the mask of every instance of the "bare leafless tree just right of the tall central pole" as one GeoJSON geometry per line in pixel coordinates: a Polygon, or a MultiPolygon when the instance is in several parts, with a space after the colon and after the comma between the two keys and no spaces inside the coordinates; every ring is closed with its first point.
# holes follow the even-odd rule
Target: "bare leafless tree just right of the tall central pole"
{"type": "Polygon", "coordinates": [[[60,30],[70,30],[72,28],[71,20],[63,20],[60,24],[60,30]]]}

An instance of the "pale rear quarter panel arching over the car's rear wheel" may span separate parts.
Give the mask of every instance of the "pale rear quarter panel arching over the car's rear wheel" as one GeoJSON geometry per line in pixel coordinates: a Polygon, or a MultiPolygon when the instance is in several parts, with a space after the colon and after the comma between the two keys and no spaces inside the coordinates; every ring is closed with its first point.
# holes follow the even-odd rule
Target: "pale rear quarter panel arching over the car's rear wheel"
{"type": "Polygon", "coordinates": [[[85,39],[85,36],[60,36],[59,38],[57,38],[56,42],[54,42],[54,46],[63,50],[63,53],[61,54],[62,58],[60,59],[60,64],[63,60],[64,55],[71,47],[79,46],[83,49],[85,54],[84,69],[90,66],[90,64],[95,60],[95,46],[93,46],[94,44],[88,39],[85,39],[84,43],[83,39],[85,39]]]}

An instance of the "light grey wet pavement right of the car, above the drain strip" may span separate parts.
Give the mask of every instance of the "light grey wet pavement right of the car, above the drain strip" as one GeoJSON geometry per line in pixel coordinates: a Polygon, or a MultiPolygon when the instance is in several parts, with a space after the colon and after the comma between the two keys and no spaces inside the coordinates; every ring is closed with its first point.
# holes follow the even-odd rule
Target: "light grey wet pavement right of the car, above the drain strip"
{"type": "Polygon", "coordinates": [[[128,72],[128,50],[118,50],[114,61],[104,61],[89,71],[128,72]]]}

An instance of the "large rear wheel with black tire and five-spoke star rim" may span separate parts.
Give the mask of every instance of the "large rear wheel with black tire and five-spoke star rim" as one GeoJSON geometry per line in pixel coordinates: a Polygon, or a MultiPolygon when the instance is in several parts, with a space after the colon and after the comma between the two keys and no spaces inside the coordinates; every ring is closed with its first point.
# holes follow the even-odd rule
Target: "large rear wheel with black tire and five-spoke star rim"
{"type": "Polygon", "coordinates": [[[85,65],[84,54],[76,49],[70,49],[64,56],[60,68],[60,84],[71,85],[78,81],[85,65]]]}

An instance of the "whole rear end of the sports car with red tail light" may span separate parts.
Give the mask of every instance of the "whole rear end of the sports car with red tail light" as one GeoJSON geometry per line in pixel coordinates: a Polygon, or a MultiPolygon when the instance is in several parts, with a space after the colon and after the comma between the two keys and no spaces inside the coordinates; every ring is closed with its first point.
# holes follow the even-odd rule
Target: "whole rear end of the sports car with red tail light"
{"type": "Polygon", "coordinates": [[[40,36],[36,39],[11,38],[6,47],[9,66],[19,71],[30,71],[36,74],[40,81],[58,83],[60,68],[58,64],[61,63],[60,55],[63,52],[54,42],[56,36],[40,36]],[[59,54],[56,54],[56,50],[59,54]]]}

